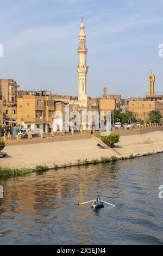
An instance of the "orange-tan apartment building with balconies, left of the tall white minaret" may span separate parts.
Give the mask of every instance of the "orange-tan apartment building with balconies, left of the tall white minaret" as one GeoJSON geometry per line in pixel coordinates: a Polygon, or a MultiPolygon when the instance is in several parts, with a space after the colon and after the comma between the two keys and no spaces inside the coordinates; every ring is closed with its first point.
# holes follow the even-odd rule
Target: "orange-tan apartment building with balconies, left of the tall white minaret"
{"type": "Polygon", "coordinates": [[[17,125],[39,132],[50,132],[54,110],[52,96],[24,95],[17,99],[17,125]]]}

